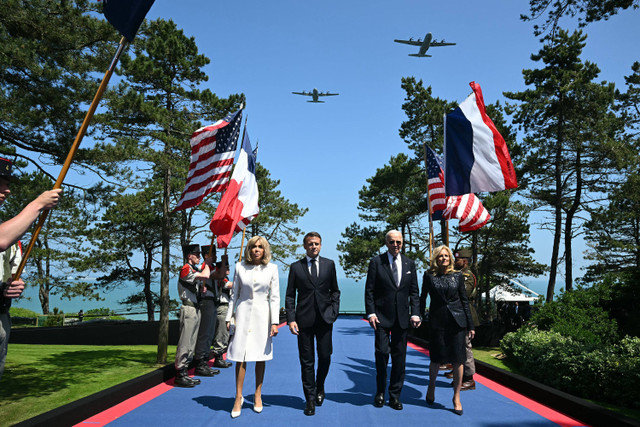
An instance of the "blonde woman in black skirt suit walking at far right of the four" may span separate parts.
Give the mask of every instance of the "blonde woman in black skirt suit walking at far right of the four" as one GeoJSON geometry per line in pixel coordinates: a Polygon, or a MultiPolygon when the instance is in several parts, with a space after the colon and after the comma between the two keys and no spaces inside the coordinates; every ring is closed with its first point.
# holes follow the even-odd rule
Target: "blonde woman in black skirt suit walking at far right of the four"
{"type": "Polygon", "coordinates": [[[464,288],[464,276],[453,269],[453,253],[447,246],[437,247],[431,254],[431,268],[424,273],[421,307],[424,310],[427,294],[429,305],[429,389],[427,404],[433,404],[436,377],[442,363],[453,365],[453,412],[462,415],[460,387],[462,364],[466,358],[465,336],[475,335],[469,301],[464,288]]]}

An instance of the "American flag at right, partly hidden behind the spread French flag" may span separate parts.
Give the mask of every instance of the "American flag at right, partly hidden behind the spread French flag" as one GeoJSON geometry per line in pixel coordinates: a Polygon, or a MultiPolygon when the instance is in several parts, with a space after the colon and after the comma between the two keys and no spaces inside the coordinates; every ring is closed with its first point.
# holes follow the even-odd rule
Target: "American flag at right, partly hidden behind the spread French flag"
{"type": "Polygon", "coordinates": [[[460,231],[473,231],[483,227],[491,219],[475,194],[448,196],[444,193],[444,173],[442,161],[430,148],[427,148],[428,193],[431,201],[431,218],[438,220],[459,219],[460,231]]]}

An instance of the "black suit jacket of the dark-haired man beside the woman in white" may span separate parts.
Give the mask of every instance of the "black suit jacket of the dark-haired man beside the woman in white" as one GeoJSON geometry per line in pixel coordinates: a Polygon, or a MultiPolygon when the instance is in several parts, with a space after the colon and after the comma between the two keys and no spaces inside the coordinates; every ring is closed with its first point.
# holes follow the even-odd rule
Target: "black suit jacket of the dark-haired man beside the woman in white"
{"type": "Polygon", "coordinates": [[[336,265],[328,258],[318,258],[320,262],[315,283],[311,279],[306,257],[291,264],[289,270],[285,299],[287,322],[296,322],[300,328],[313,326],[317,313],[325,322],[333,323],[340,311],[340,289],[336,277],[336,265]]]}

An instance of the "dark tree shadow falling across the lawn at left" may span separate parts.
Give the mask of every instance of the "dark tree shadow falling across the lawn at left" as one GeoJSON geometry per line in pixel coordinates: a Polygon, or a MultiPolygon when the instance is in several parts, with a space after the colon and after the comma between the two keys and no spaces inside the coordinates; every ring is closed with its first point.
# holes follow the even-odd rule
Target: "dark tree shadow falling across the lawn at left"
{"type": "Polygon", "coordinates": [[[25,396],[47,396],[79,383],[89,384],[92,377],[104,374],[105,367],[151,367],[154,359],[153,350],[128,349],[74,350],[48,355],[34,363],[8,367],[0,382],[0,403],[25,396]]]}

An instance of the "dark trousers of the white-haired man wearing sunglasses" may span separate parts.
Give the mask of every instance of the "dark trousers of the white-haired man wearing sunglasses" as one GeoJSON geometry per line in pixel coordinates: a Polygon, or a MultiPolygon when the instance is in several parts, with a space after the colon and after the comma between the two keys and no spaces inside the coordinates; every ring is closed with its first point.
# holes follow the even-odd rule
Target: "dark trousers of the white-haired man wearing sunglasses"
{"type": "Polygon", "coordinates": [[[404,384],[407,360],[407,332],[396,322],[391,328],[378,325],[375,331],[376,346],[376,394],[383,393],[387,386],[387,364],[391,355],[391,377],[389,397],[400,399],[404,384]]]}

